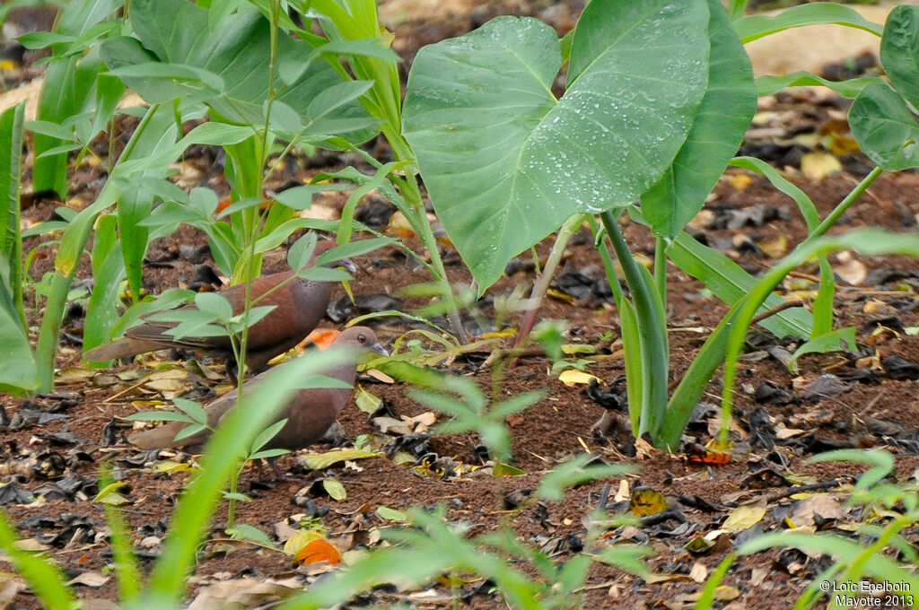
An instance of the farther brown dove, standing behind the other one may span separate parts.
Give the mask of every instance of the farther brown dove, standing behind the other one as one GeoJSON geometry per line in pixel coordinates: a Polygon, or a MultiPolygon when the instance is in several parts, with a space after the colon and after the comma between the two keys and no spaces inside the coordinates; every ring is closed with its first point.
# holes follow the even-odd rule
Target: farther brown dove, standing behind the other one
{"type": "MultiPolygon", "coordinates": [[[[320,242],[309,265],[315,264],[320,254],[335,247],[335,242],[320,242]]],[[[327,266],[343,265],[352,273],[354,265],[347,259],[330,263],[327,266]]],[[[246,344],[245,363],[250,372],[257,373],[267,368],[268,361],[278,354],[287,352],[323,319],[332,296],[332,283],[313,281],[295,277],[293,270],[282,271],[267,276],[257,277],[252,282],[251,299],[253,306],[274,305],[275,309],[267,316],[255,322],[249,328],[246,344]],[[292,277],[292,279],[291,279],[292,277]],[[285,283],[287,282],[287,283],[285,283]],[[280,288],[278,288],[280,287],[280,288]]],[[[220,294],[230,302],[233,315],[238,315],[245,308],[245,285],[239,284],[221,290],[220,294]]],[[[183,305],[179,310],[197,309],[193,303],[183,305]]],[[[155,311],[144,318],[149,318],[163,311],[155,311]]],[[[129,358],[159,349],[171,347],[194,350],[208,356],[216,356],[231,361],[228,372],[235,377],[233,363],[233,345],[228,336],[186,336],[181,339],[166,332],[176,327],[176,322],[153,322],[146,320],[125,332],[125,336],[106,345],[99,345],[84,353],[89,362],[102,362],[115,358],[129,358]]]]}

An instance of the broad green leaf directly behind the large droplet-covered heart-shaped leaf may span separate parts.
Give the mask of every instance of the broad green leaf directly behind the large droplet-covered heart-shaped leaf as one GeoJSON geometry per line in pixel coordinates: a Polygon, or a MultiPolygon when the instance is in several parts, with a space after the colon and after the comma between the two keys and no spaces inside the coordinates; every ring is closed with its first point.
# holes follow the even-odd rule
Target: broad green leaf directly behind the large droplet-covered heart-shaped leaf
{"type": "Polygon", "coordinates": [[[671,239],[702,209],[756,110],[750,58],[718,0],[709,0],[709,11],[709,88],[674,163],[641,196],[653,232],[671,239]]]}

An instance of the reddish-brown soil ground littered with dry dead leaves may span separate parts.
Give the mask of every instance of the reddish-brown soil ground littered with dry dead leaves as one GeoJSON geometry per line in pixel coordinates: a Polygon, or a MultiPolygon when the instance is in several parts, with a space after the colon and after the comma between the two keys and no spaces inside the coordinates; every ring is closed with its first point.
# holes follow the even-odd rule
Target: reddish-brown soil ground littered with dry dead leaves
{"type": "MultiPolygon", "coordinates": [[[[514,3],[505,3],[510,6],[514,3]]],[[[551,5],[517,3],[516,11],[544,14],[551,5]]],[[[468,6],[468,5],[466,5],[468,6]]],[[[561,30],[570,27],[568,21],[576,18],[577,3],[560,5],[555,9],[561,30]]],[[[497,10],[482,4],[465,14],[449,13],[439,20],[421,22],[412,16],[404,17],[393,28],[404,47],[400,51],[411,56],[420,44],[455,35],[491,17],[497,10]]],[[[543,15],[545,17],[545,15],[543,15]]],[[[785,134],[838,129],[834,121],[845,112],[845,102],[835,98],[821,98],[810,93],[781,94],[763,102],[763,109],[776,112],[777,119],[770,126],[780,127],[785,134]],[[842,108],[842,109],[841,109],[842,108]],[[781,121],[785,122],[781,122],[781,121]]],[[[838,122],[838,121],[837,121],[838,122]]],[[[762,127],[762,126],[760,126],[762,127]]],[[[834,131],[833,131],[834,132],[834,131]]],[[[841,137],[845,136],[845,130],[841,137]]],[[[842,158],[845,170],[841,173],[815,179],[800,171],[803,153],[811,152],[811,143],[792,143],[757,139],[752,132],[744,144],[743,153],[762,156],[770,162],[786,166],[789,177],[814,200],[822,216],[833,209],[838,201],[857,184],[865,174],[867,160],[859,154],[842,158]]],[[[782,139],[778,139],[782,140],[782,139]]],[[[105,147],[102,146],[102,150],[105,147]]],[[[202,183],[210,177],[207,150],[200,156],[189,154],[188,164],[206,173],[202,183]]],[[[319,155],[300,159],[298,178],[318,171],[339,169],[351,158],[338,155],[319,155]],[[302,169],[309,167],[309,170],[302,169]]],[[[367,168],[364,168],[365,171],[367,168]]],[[[77,169],[74,173],[74,200],[92,200],[94,179],[98,170],[77,169]]],[[[27,168],[28,174],[28,168],[27,168]]],[[[285,176],[285,180],[289,176],[285,176]]],[[[219,179],[219,178],[218,178],[219,179]]],[[[94,186],[95,185],[95,186],[94,186]]],[[[217,186],[219,188],[219,186],[217,186]]],[[[919,175],[907,172],[883,175],[868,192],[849,209],[839,221],[834,232],[843,232],[858,226],[881,226],[893,231],[915,231],[919,218],[919,175]]],[[[344,196],[328,198],[325,203],[340,209],[344,196]]],[[[51,218],[53,201],[38,200],[24,211],[29,221],[51,218]]],[[[366,204],[365,204],[366,205],[366,204]]],[[[694,231],[704,235],[709,244],[723,249],[738,263],[751,271],[758,271],[787,251],[788,247],[806,236],[806,227],[794,202],[778,193],[765,179],[740,170],[730,170],[715,189],[707,208],[693,223],[694,231]],[[783,247],[782,243],[788,243],[783,247]]],[[[640,226],[630,224],[626,236],[634,251],[652,254],[653,240],[640,226]]],[[[36,247],[39,240],[27,243],[27,251],[36,247]]],[[[172,238],[154,243],[148,253],[151,264],[144,271],[145,288],[159,292],[165,288],[187,285],[194,277],[195,265],[211,264],[199,246],[206,240],[199,232],[183,228],[172,238]]],[[[419,250],[414,240],[409,245],[419,250]]],[[[539,244],[539,254],[548,254],[551,243],[539,244]]],[[[30,275],[39,281],[53,265],[53,249],[40,250],[30,275]]],[[[449,247],[442,253],[448,261],[451,280],[469,286],[471,277],[449,247]]],[[[270,260],[267,267],[283,265],[283,254],[270,260]]],[[[601,537],[601,546],[621,541],[648,544],[654,551],[648,564],[659,578],[640,579],[621,570],[597,563],[577,599],[574,607],[584,608],[635,608],[667,607],[688,608],[695,603],[692,595],[698,593],[705,582],[705,573],[715,570],[732,548],[759,531],[772,531],[785,526],[789,511],[803,502],[791,497],[793,485],[842,483],[852,480],[863,467],[849,463],[808,463],[808,458],[826,449],[839,447],[886,448],[898,456],[898,471],[902,480],[912,473],[919,460],[914,456],[919,450],[919,338],[904,329],[919,326],[919,265],[902,257],[879,257],[862,260],[853,254],[834,254],[834,268],[842,277],[835,305],[836,326],[855,326],[859,353],[845,355],[811,355],[800,359],[799,373],[777,359],[781,352],[793,352],[795,345],[789,341],[766,337],[765,343],[750,347],[743,363],[737,384],[735,422],[732,426],[734,449],[727,464],[705,463],[694,460],[686,453],[666,455],[657,451],[646,452],[641,444],[636,447],[628,431],[627,416],[613,412],[618,423],[607,434],[598,438],[592,426],[603,412],[591,400],[584,386],[568,387],[549,374],[551,363],[545,356],[528,356],[519,360],[516,367],[506,371],[500,379],[502,396],[513,396],[524,391],[542,390],[545,396],[521,415],[511,417],[508,425],[513,432],[513,466],[526,474],[516,477],[495,478],[488,470],[464,467],[481,467],[480,441],[475,435],[437,436],[424,445],[424,459],[407,465],[379,457],[357,461],[345,467],[323,471],[305,469],[297,457],[282,457],[279,465],[291,474],[291,480],[264,483],[257,470],[246,469],[240,488],[252,499],[251,503],[237,506],[237,524],[253,525],[283,543],[278,534],[278,524],[293,523],[296,527],[303,515],[319,515],[328,528],[329,537],[343,550],[374,546],[385,522],[377,509],[388,506],[404,509],[411,506],[442,504],[446,518],[452,523],[471,525],[471,534],[494,531],[505,525],[516,537],[534,548],[541,548],[556,561],[563,561],[578,551],[587,536],[588,517],[599,507],[609,514],[621,514],[629,509],[628,503],[614,498],[623,481],[629,491],[639,487],[650,488],[664,494],[673,510],[674,518],[659,524],[623,526],[609,529],[601,537]],[[863,265],[863,268],[859,268],[863,265]],[[859,273],[864,271],[864,273],[859,273]],[[866,312],[868,302],[872,304],[866,312]],[[878,302],[875,302],[878,301],[878,302]],[[871,309],[874,308],[874,309],[871,309]],[[771,350],[771,354],[767,352],[771,350]],[[875,364],[880,369],[874,373],[866,368],[872,362],[859,357],[877,356],[875,364]],[[902,359],[898,364],[893,357],[902,359]],[[896,366],[894,366],[896,365],[896,366]],[[912,367],[911,367],[912,366],[912,367]],[[838,395],[822,400],[807,398],[805,388],[825,372],[848,379],[838,395]],[[784,392],[786,400],[770,401],[757,390],[772,384],[784,392]],[[779,439],[771,437],[779,433],[779,439]],[[784,438],[784,440],[782,440],[784,438]],[[537,503],[526,500],[528,492],[539,484],[540,477],[554,465],[569,457],[590,452],[608,462],[634,466],[635,474],[609,480],[598,480],[569,490],[562,503],[537,503]],[[347,498],[334,501],[313,482],[331,478],[341,482],[347,498]],[[684,546],[694,535],[704,535],[719,529],[734,508],[742,503],[758,503],[766,508],[762,521],[746,532],[730,534],[708,552],[694,553],[684,546]],[[758,529],[757,529],[758,528],[758,529]],[[701,567],[700,567],[701,566],[701,567]],[[704,568],[703,568],[704,567],[704,568]],[[699,576],[702,574],[703,576],[699,576]]],[[[472,306],[475,315],[469,317],[471,328],[478,333],[503,330],[495,326],[494,299],[508,295],[516,286],[527,291],[533,285],[535,274],[531,255],[521,255],[510,277],[502,278],[488,295],[472,306]]],[[[360,270],[352,288],[356,295],[399,296],[407,286],[429,281],[423,269],[413,269],[405,264],[404,256],[394,249],[357,259],[360,270]]],[[[580,272],[587,277],[599,277],[599,257],[591,240],[579,235],[569,246],[560,269],[560,276],[575,277],[580,272]]],[[[692,361],[698,347],[727,311],[727,306],[703,289],[695,279],[671,265],[668,283],[668,316],[671,326],[671,371],[678,376],[692,361]]],[[[789,278],[785,290],[789,298],[800,295],[807,298],[815,288],[809,279],[814,268],[801,268],[799,277],[789,278]]],[[[88,278],[88,261],[83,262],[79,277],[88,278]]],[[[557,295],[562,295],[567,285],[558,282],[557,295]]],[[[608,288],[608,287],[607,287],[608,288]]],[[[569,291],[572,291],[568,287],[569,291]]],[[[344,290],[336,288],[337,300],[344,290]]],[[[30,323],[40,320],[34,299],[29,301],[30,323]]],[[[403,310],[412,311],[425,304],[423,299],[403,299],[403,310]]],[[[80,367],[80,331],[82,320],[79,308],[65,323],[59,365],[62,368],[80,367]]],[[[596,345],[599,353],[612,355],[587,367],[588,372],[601,378],[609,390],[614,381],[623,375],[622,360],[617,356],[621,347],[618,340],[618,314],[602,291],[587,290],[580,299],[550,298],[540,311],[543,319],[570,322],[567,340],[573,344],[596,345]]],[[[519,321],[515,314],[505,322],[513,327],[519,321]]],[[[340,327],[344,322],[326,320],[323,325],[340,327]]],[[[399,321],[377,325],[377,333],[390,343],[409,331],[399,321]]],[[[408,338],[412,338],[410,335],[408,338]]],[[[403,348],[404,349],[404,348],[403,348]]],[[[126,390],[136,381],[122,382],[111,373],[149,372],[153,367],[163,367],[175,355],[168,352],[143,357],[138,362],[93,374],[75,374],[74,382],[59,383],[51,395],[28,401],[0,396],[0,404],[13,418],[6,429],[0,456],[5,464],[4,486],[0,486],[0,502],[12,523],[19,528],[20,536],[36,539],[48,545],[52,556],[60,562],[68,575],[102,572],[111,562],[108,546],[108,527],[102,506],[94,503],[97,493],[96,479],[103,459],[114,460],[116,474],[128,483],[123,491],[129,503],[124,514],[130,524],[135,547],[142,565],[149,568],[165,536],[165,526],[176,503],[176,498],[187,480],[187,474],[154,471],[164,459],[176,459],[194,464],[194,457],[161,452],[159,456],[143,456],[123,441],[130,424],[119,418],[132,412],[148,410],[143,401],[162,400],[160,390],[140,385],[126,390]],[[28,412],[37,412],[33,417],[28,412]],[[51,416],[62,414],[61,419],[51,416]],[[50,421],[44,423],[44,419],[50,421]],[[41,423],[40,423],[41,422],[41,423]],[[18,488],[23,495],[13,491],[18,488]],[[9,492],[9,493],[6,493],[9,492]],[[6,495],[4,495],[6,493],[6,495]],[[9,498],[9,499],[8,499],[9,498]],[[33,500],[34,499],[34,500],[33,500]]],[[[491,392],[494,370],[482,367],[482,357],[459,358],[451,370],[478,381],[482,389],[491,392]]],[[[204,360],[202,364],[221,373],[220,365],[204,360]]],[[[74,370],[74,369],[68,369],[74,370]]],[[[78,368],[76,369],[78,372],[78,368]]],[[[186,369],[179,366],[177,370],[186,369]]],[[[369,377],[359,380],[360,385],[382,398],[391,415],[413,416],[427,411],[425,407],[406,396],[401,384],[382,384],[369,377]]],[[[662,383],[664,380],[661,381],[662,383]]],[[[188,392],[187,398],[207,400],[214,381],[195,374],[181,380],[188,392]]],[[[705,399],[717,404],[720,396],[720,372],[709,386],[705,399]]],[[[498,399],[499,397],[493,397],[498,399]]],[[[438,415],[445,421],[445,415],[438,415]]],[[[704,412],[694,419],[686,432],[688,443],[705,444],[717,433],[720,413],[717,409],[704,412]]],[[[392,438],[380,435],[369,422],[369,416],[349,407],[340,423],[344,426],[344,445],[352,445],[359,435],[369,435],[371,442],[381,444],[392,438]]],[[[312,447],[311,452],[321,452],[328,447],[312,447]]],[[[823,492],[833,497],[845,497],[845,488],[828,484],[823,492]]],[[[840,524],[857,520],[853,509],[845,509],[840,524]]],[[[226,507],[215,515],[211,540],[201,548],[198,568],[188,581],[188,598],[194,599],[203,587],[215,582],[264,581],[268,578],[293,578],[299,587],[307,587],[326,569],[324,566],[291,567],[289,557],[277,551],[236,545],[228,548],[220,540],[226,525],[226,507]]],[[[822,520],[823,521],[823,520],[822,520]]],[[[820,522],[819,522],[820,523],[820,522]]],[[[826,520],[828,531],[843,533],[835,528],[836,521],[826,520]]],[[[280,528],[283,533],[284,528],[280,528]]],[[[919,540],[916,532],[906,532],[913,544],[919,540]]],[[[816,574],[830,565],[826,558],[809,558],[797,551],[773,550],[737,559],[724,578],[720,601],[714,607],[732,608],[787,608],[800,596],[816,574]]],[[[527,570],[526,568],[522,568],[527,570]]],[[[5,567],[5,570],[8,568],[5,567]]],[[[528,570],[527,570],[528,571],[528,570]]],[[[242,588],[243,584],[240,584],[242,588]]],[[[108,577],[99,586],[81,586],[78,589],[85,607],[108,607],[106,602],[117,600],[114,578],[108,577]]],[[[453,607],[454,594],[461,604],[475,608],[505,607],[491,592],[489,586],[472,581],[459,586],[451,593],[448,587],[434,582],[421,592],[382,589],[364,597],[359,604],[392,604],[402,602],[413,607],[453,607]]],[[[255,604],[266,604],[262,599],[255,604]]],[[[34,608],[38,601],[28,591],[17,594],[10,604],[2,607],[34,608]]],[[[207,607],[213,607],[207,606],[207,607]]]]}

